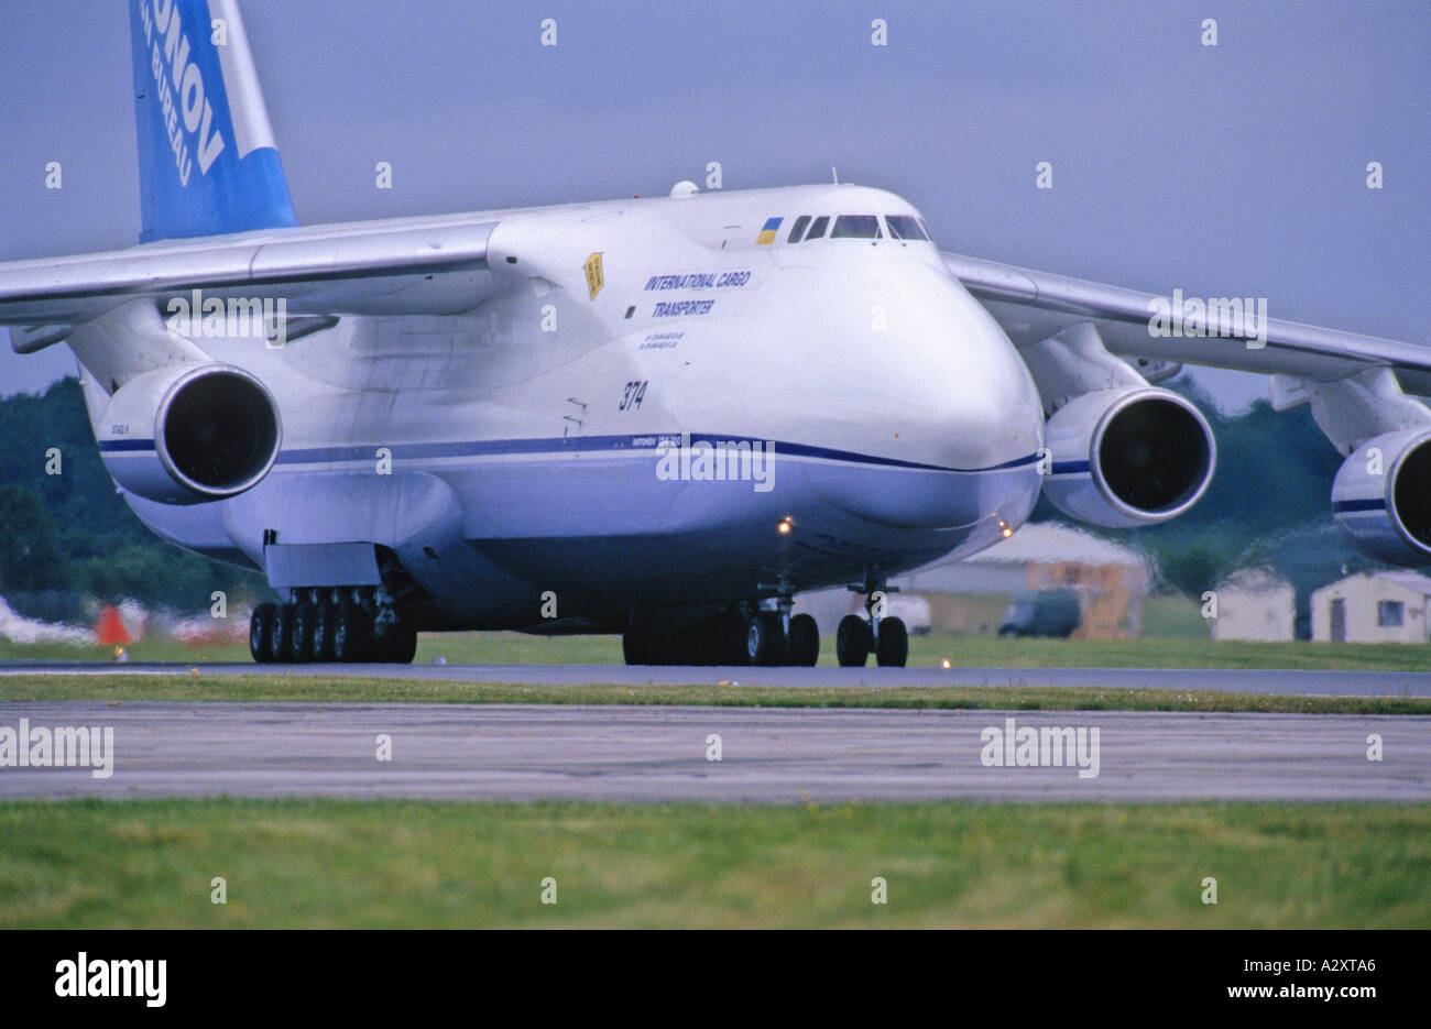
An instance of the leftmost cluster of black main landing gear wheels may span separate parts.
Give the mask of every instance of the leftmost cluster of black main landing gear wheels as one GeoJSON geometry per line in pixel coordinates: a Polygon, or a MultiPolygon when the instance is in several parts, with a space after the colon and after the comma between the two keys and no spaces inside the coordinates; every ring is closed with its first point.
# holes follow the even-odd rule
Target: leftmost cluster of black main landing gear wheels
{"type": "Polygon", "coordinates": [[[409,664],[418,650],[411,623],[373,617],[351,601],[259,604],[249,620],[249,654],[259,664],[382,661],[409,664]]]}

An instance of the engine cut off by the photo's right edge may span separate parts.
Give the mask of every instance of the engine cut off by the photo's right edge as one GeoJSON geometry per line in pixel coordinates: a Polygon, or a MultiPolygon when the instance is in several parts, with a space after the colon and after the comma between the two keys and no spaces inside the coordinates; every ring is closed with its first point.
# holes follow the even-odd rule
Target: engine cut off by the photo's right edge
{"type": "Polygon", "coordinates": [[[1431,564],[1431,429],[1374,437],[1332,482],[1332,517],[1352,547],[1388,564],[1431,564]]]}

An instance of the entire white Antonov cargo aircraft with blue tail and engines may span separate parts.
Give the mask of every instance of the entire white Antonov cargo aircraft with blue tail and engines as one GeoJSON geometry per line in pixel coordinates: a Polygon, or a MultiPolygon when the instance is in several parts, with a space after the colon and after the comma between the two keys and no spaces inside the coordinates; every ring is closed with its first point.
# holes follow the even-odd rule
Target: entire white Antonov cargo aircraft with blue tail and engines
{"type": "Polygon", "coordinates": [[[1213,471],[1181,362],[1271,375],[1347,455],[1332,512],[1431,561],[1431,351],[942,252],[811,185],[299,225],[236,0],[130,0],[143,232],[0,265],[0,325],[79,362],[165,540],[262,571],[258,661],[418,631],[621,633],[633,664],[903,665],[896,572],[1046,495],[1106,527],[1213,471]]]}

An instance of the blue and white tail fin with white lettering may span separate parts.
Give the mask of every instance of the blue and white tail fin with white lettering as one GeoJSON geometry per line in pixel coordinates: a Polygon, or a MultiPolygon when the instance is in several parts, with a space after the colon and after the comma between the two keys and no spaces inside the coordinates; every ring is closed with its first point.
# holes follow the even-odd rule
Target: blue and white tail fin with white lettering
{"type": "Polygon", "coordinates": [[[129,0],[139,242],[298,225],[236,0],[129,0]]]}

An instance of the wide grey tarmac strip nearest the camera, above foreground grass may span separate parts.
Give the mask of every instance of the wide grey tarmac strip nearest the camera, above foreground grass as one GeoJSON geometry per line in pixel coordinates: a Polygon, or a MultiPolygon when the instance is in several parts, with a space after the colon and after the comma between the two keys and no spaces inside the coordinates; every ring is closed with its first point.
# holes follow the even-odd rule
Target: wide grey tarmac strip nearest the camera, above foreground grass
{"type": "Polygon", "coordinates": [[[20,718],[31,730],[113,728],[113,773],[3,767],[0,799],[1431,800],[1427,717],[0,703],[0,727],[17,730],[20,718]],[[1096,764],[1070,748],[1055,767],[986,766],[986,730],[1003,731],[1010,717],[1015,728],[1083,730],[1079,754],[1096,753],[1096,764]],[[1379,761],[1368,760],[1371,734],[1379,761]],[[708,760],[714,736],[718,761],[708,760]],[[379,760],[379,737],[391,760],[379,760]]]}

